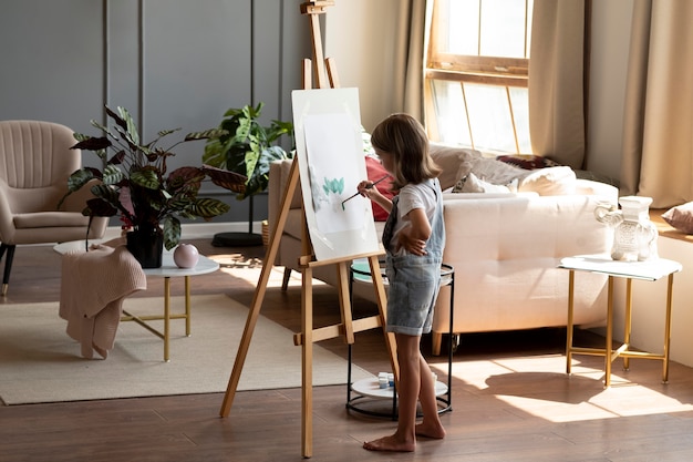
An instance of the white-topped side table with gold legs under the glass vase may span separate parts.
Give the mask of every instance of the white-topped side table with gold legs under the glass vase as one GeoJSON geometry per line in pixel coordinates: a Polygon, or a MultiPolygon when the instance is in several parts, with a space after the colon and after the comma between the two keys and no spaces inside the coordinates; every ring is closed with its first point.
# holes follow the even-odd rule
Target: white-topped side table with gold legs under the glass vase
{"type": "Polygon", "coordinates": [[[559,268],[570,271],[568,284],[568,333],[566,340],[566,373],[570,373],[572,355],[596,355],[604,357],[604,387],[611,384],[611,363],[618,357],[623,358],[623,368],[628,370],[630,358],[659,359],[663,362],[662,381],[669,381],[669,348],[671,340],[671,302],[674,274],[681,271],[682,266],[678,261],[664,258],[649,261],[617,261],[608,255],[582,255],[568,257],[560,260],[559,268]],[[590,271],[609,276],[608,302],[607,302],[607,345],[606,348],[581,348],[572,345],[572,312],[575,295],[575,271],[590,271]],[[664,349],[662,353],[630,350],[631,315],[632,315],[632,281],[658,280],[669,277],[666,288],[666,319],[664,322],[664,349]],[[613,278],[625,278],[625,327],[623,343],[616,350],[613,340],[613,278]]]}

